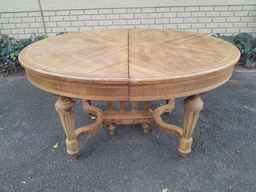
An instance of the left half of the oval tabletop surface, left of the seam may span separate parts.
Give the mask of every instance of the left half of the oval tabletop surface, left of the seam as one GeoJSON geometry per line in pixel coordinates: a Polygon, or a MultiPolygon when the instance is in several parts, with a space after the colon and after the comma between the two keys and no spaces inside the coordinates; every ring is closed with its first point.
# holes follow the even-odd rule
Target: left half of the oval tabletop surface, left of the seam
{"type": "Polygon", "coordinates": [[[127,30],[58,35],[27,46],[19,58],[25,68],[43,74],[88,81],[127,81],[127,30]]]}

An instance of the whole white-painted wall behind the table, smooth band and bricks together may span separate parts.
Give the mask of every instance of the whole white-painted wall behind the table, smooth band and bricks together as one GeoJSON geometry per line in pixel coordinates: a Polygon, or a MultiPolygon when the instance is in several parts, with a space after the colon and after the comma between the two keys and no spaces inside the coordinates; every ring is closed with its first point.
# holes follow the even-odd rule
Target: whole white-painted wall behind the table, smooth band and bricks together
{"type": "MultiPolygon", "coordinates": [[[[97,29],[176,29],[256,36],[256,0],[40,0],[46,35],[97,29]]],[[[0,33],[42,35],[38,0],[0,0],[0,33]]]]}

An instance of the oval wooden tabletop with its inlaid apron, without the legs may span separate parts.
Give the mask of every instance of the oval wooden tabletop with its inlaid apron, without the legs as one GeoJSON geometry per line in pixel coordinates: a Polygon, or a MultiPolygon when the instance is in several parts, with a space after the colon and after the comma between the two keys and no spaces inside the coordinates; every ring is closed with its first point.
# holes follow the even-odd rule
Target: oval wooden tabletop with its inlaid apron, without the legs
{"type": "Polygon", "coordinates": [[[67,97],[148,101],[225,83],[240,58],[222,39],[176,30],[113,29],[58,35],[19,54],[35,86],[67,97]]]}

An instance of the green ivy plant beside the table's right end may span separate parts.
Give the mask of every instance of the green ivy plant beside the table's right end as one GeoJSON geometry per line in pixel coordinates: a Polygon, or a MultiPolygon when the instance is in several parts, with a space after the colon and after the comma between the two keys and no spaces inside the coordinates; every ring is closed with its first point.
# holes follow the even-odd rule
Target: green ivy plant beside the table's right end
{"type": "Polygon", "coordinates": [[[248,33],[240,33],[236,36],[212,35],[217,38],[221,38],[225,41],[235,45],[241,52],[240,62],[238,64],[250,65],[256,60],[256,38],[248,33]]]}

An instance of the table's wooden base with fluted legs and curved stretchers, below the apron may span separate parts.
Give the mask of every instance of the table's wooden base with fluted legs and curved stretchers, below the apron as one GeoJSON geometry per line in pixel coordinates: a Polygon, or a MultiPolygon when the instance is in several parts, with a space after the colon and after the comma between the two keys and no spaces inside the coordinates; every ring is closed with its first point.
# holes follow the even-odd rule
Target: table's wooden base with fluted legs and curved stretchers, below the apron
{"type": "Polygon", "coordinates": [[[166,105],[159,106],[154,111],[149,107],[149,101],[144,101],[144,109],[139,110],[137,102],[132,102],[132,109],[125,109],[125,101],[120,101],[120,109],[113,108],[113,102],[108,101],[108,109],[103,112],[102,109],[91,106],[90,100],[83,100],[83,109],[85,112],[97,116],[94,124],[75,129],[74,126],[74,101],[68,97],[59,97],[56,103],[56,110],[60,114],[61,123],[66,133],[67,153],[72,157],[78,154],[78,139],[84,135],[97,132],[106,124],[110,135],[114,134],[116,125],[123,124],[141,124],[144,133],[148,133],[150,125],[154,124],[157,128],[167,133],[171,133],[180,138],[178,150],[182,156],[186,156],[191,151],[192,134],[199,117],[200,110],[203,108],[203,101],[200,95],[192,95],[184,100],[184,118],[183,129],[176,125],[170,125],[163,122],[161,114],[169,113],[174,109],[174,99],[167,99],[166,105]]]}

